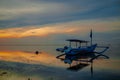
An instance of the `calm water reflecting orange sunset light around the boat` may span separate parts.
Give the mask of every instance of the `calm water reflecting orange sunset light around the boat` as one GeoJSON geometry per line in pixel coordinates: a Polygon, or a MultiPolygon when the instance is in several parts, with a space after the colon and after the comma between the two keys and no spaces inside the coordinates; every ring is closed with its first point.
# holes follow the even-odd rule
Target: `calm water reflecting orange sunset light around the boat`
{"type": "MultiPolygon", "coordinates": [[[[0,74],[2,80],[119,80],[120,60],[109,56],[110,59],[97,59],[91,64],[74,71],[68,70],[69,65],[57,60],[56,48],[64,45],[37,46],[1,46],[0,74]],[[39,55],[35,51],[41,51],[39,55]],[[7,72],[3,74],[3,72],[7,72]]],[[[109,52],[109,51],[108,51],[109,52]]],[[[109,54],[109,53],[106,54],[109,54]]],[[[75,62],[72,64],[74,65],[75,62]]]]}

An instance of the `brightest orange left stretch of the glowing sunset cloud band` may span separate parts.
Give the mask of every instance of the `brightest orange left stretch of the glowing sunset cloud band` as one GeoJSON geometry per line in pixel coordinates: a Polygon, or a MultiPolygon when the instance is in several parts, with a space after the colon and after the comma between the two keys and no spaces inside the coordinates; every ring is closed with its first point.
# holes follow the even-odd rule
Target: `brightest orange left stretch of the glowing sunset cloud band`
{"type": "Polygon", "coordinates": [[[0,38],[22,38],[29,36],[47,36],[51,34],[72,33],[77,29],[71,27],[26,27],[26,28],[9,28],[0,30],[0,38]]]}

